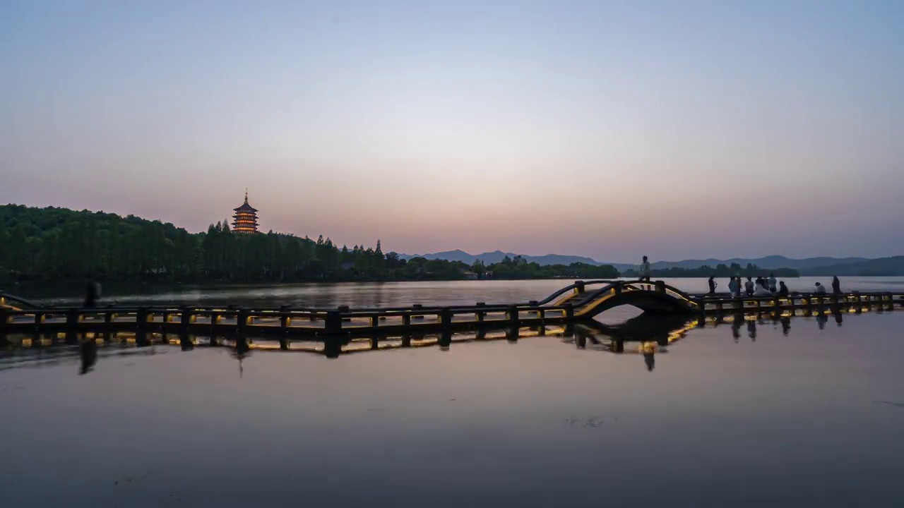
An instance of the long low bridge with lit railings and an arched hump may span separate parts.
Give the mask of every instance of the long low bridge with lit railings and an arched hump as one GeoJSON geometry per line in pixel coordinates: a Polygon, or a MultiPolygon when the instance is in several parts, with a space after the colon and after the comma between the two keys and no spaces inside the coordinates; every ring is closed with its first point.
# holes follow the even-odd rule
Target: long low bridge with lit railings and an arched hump
{"type": "Polygon", "coordinates": [[[840,295],[790,296],[691,295],[663,281],[576,281],[543,298],[523,304],[408,306],[385,308],[244,308],[239,306],[41,306],[0,292],[0,334],[52,332],[156,331],[182,334],[302,334],[319,337],[407,334],[485,326],[544,326],[589,322],[617,306],[645,313],[720,315],[794,313],[856,307],[893,310],[904,306],[904,293],[852,292],[840,295]]]}

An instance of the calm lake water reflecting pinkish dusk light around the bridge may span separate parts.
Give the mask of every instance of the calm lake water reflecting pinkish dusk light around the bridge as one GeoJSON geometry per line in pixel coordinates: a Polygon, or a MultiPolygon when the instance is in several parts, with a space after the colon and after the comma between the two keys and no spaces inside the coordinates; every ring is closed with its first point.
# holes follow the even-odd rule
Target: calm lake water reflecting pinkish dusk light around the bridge
{"type": "MultiPolygon", "coordinates": [[[[233,287],[174,299],[448,305],[536,299],[569,282],[233,287]]],[[[691,291],[699,282],[670,281],[691,291]]],[[[889,282],[899,283],[843,286],[889,282]]],[[[665,341],[677,325],[638,314],[602,316],[636,318],[624,326],[643,340],[620,347],[615,330],[592,328],[457,334],[450,347],[336,359],[295,349],[304,344],[256,341],[240,357],[203,347],[206,337],[185,351],[126,340],[99,346],[85,375],[76,346],[21,348],[9,337],[0,506],[904,505],[904,312],[729,317],[665,341]]]]}

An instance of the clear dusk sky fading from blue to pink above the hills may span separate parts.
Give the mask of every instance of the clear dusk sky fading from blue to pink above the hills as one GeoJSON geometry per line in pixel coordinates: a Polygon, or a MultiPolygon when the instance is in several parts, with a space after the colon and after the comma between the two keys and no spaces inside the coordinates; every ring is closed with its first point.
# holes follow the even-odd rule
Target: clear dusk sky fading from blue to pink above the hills
{"type": "Polygon", "coordinates": [[[0,3],[0,203],[426,253],[904,254],[904,2],[0,3]]]}

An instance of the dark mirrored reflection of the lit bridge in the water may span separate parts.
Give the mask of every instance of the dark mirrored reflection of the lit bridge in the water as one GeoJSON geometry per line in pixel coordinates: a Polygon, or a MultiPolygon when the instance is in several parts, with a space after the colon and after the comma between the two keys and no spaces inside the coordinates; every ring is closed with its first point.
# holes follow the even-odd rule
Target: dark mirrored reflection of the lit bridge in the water
{"type": "Polygon", "coordinates": [[[757,338],[758,325],[781,325],[784,334],[789,334],[794,316],[815,317],[816,324],[823,328],[830,320],[843,325],[843,316],[848,313],[886,312],[881,307],[852,306],[833,307],[813,312],[810,309],[786,310],[783,312],[732,313],[712,316],[687,315],[640,315],[619,325],[604,325],[595,320],[565,325],[542,325],[509,327],[486,325],[470,333],[441,330],[439,333],[375,334],[360,333],[346,336],[324,335],[312,337],[254,336],[250,334],[203,335],[187,332],[165,331],[105,331],[65,332],[32,334],[0,334],[0,370],[12,368],[34,360],[48,361],[65,357],[80,356],[83,372],[88,372],[97,361],[98,351],[115,354],[141,354],[155,352],[155,346],[179,346],[183,351],[204,347],[223,347],[241,361],[255,352],[307,353],[337,358],[347,354],[374,353],[405,348],[438,347],[449,351],[456,344],[508,341],[518,343],[532,337],[559,337],[563,343],[577,348],[607,353],[638,353],[644,356],[648,369],[654,368],[657,353],[666,353],[667,347],[680,341],[695,328],[728,327],[735,341],[743,330],[751,340],[757,338]],[[104,347],[99,347],[104,346],[104,347]],[[116,346],[119,346],[118,348],[116,346]],[[50,349],[52,354],[46,354],[50,349]],[[43,351],[38,355],[31,354],[43,351]],[[18,355],[18,360],[16,357],[18,355]]]}

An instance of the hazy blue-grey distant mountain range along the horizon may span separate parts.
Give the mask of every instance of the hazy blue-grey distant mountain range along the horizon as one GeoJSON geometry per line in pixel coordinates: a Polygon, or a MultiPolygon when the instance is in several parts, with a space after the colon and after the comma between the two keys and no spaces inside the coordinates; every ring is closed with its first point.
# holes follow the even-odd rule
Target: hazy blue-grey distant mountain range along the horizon
{"type": "MultiPolygon", "coordinates": [[[[447,261],[461,261],[467,264],[474,264],[480,259],[487,265],[502,261],[505,256],[514,258],[518,254],[513,252],[503,252],[502,250],[494,250],[493,252],[484,252],[483,254],[470,254],[464,250],[447,250],[445,252],[435,252],[432,254],[400,254],[401,258],[411,259],[421,257],[426,259],[446,259],[447,261]]],[[[611,263],[607,261],[598,261],[596,259],[586,258],[583,256],[567,256],[561,254],[546,254],[544,256],[529,256],[522,254],[521,257],[528,262],[537,263],[538,265],[570,265],[571,263],[587,263],[589,265],[611,265],[618,271],[625,271],[631,268],[637,268],[638,263],[611,263]]],[[[759,268],[777,269],[777,268],[794,268],[801,275],[839,275],[839,276],[904,276],[904,256],[895,256],[891,258],[867,259],[867,258],[805,258],[791,259],[785,256],[766,256],[765,258],[731,258],[731,259],[684,259],[682,261],[655,261],[651,263],[653,269],[664,268],[700,268],[704,265],[715,268],[720,264],[731,265],[737,263],[742,267],[748,264],[757,265],[759,268]]]]}

